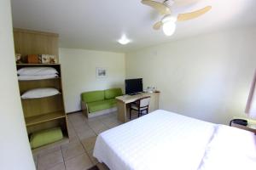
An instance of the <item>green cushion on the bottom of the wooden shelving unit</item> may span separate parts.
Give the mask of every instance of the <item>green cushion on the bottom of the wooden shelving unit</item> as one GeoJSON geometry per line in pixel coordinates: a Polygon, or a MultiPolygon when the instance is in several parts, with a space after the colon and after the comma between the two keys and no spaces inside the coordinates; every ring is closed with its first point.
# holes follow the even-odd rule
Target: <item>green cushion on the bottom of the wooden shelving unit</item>
{"type": "Polygon", "coordinates": [[[32,149],[38,148],[45,144],[50,144],[55,141],[63,139],[63,134],[61,132],[61,127],[55,127],[47,130],[38,131],[32,133],[30,138],[30,145],[32,149]]]}

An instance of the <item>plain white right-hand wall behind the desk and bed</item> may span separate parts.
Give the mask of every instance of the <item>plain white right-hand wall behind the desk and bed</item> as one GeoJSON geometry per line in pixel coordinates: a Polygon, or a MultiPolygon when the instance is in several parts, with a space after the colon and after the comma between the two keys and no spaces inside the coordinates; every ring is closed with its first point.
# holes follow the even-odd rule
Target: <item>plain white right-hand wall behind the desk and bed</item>
{"type": "Polygon", "coordinates": [[[126,77],[160,91],[160,108],[209,122],[245,116],[256,67],[256,27],[216,32],[126,54],[126,77]]]}

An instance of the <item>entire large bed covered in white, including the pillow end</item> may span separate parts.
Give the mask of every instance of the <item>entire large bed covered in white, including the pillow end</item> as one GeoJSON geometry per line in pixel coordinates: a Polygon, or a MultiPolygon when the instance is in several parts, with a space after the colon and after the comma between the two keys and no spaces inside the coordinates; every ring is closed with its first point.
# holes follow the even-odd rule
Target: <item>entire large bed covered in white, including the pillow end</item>
{"type": "Polygon", "coordinates": [[[99,134],[93,156],[111,170],[256,169],[255,141],[235,127],[158,110],[99,134]]]}

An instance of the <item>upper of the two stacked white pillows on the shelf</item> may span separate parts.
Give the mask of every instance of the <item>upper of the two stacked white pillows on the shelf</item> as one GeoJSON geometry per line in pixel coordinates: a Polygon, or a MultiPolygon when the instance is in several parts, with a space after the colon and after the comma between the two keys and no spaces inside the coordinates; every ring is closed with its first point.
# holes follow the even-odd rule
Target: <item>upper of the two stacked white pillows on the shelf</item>
{"type": "Polygon", "coordinates": [[[43,66],[35,66],[35,67],[23,67],[18,70],[18,75],[23,76],[38,76],[38,75],[52,75],[52,74],[58,74],[58,71],[56,71],[53,67],[43,67],[43,66]]]}

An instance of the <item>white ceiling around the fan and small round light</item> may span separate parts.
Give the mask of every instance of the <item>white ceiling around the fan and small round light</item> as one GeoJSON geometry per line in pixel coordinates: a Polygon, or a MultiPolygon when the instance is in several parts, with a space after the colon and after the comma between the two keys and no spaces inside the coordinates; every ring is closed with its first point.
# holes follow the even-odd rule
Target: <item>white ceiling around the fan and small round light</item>
{"type": "Polygon", "coordinates": [[[161,16],[140,0],[12,0],[12,13],[14,27],[59,33],[62,48],[114,52],[256,24],[256,0],[201,0],[175,7],[173,12],[190,12],[206,5],[212,5],[210,12],[178,22],[172,37],[152,29],[161,16]],[[116,40],[124,33],[132,42],[122,46],[116,40]]]}

